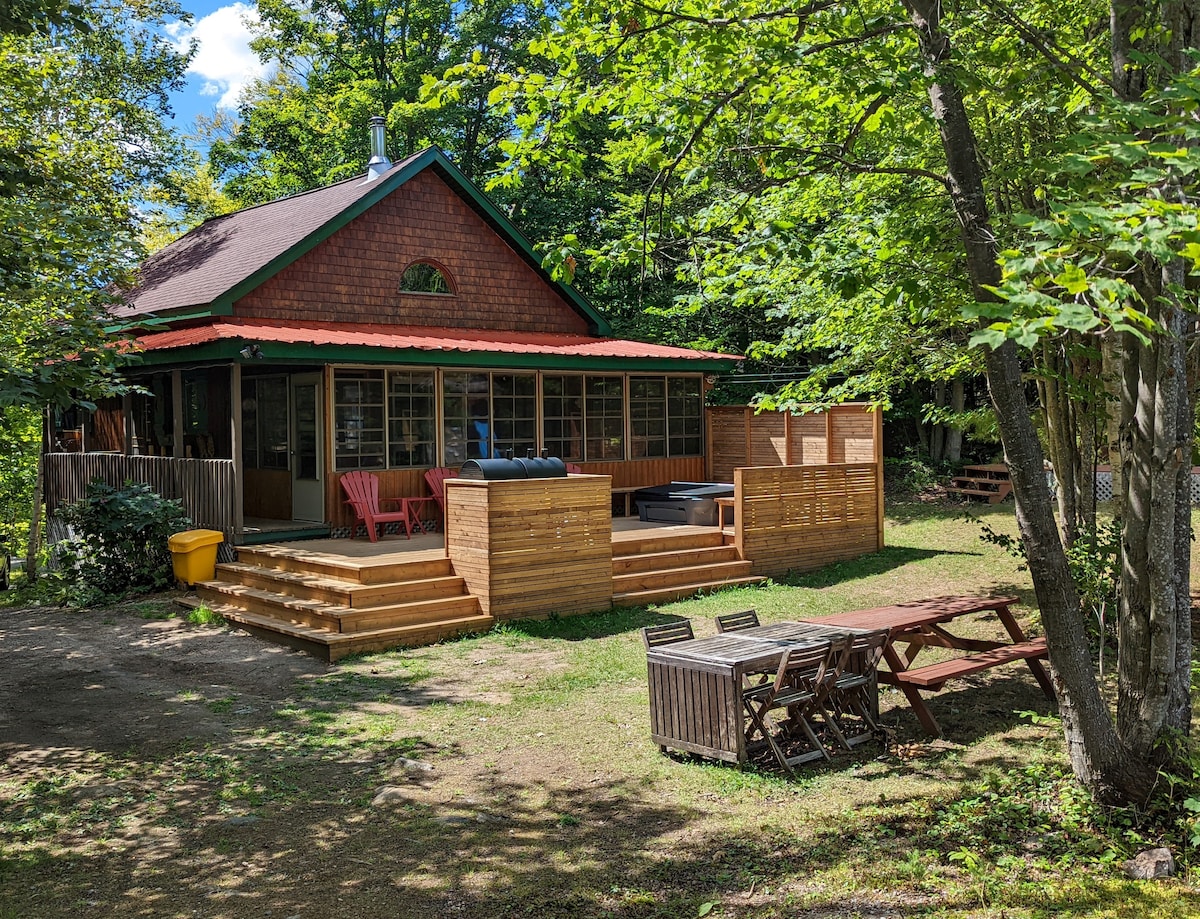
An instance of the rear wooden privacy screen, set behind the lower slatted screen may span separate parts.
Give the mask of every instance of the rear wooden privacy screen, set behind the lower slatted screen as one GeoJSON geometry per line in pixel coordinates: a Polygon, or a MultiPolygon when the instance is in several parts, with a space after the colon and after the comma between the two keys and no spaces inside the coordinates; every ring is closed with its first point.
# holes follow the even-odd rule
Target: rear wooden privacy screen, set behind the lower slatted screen
{"type": "Polygon", "coordinates": [[[714,406],[708,409],[709,477],[733,481],[739,465],[878,462],[880,420],[878,412],[860,403],[811,415],[714,406]]]}

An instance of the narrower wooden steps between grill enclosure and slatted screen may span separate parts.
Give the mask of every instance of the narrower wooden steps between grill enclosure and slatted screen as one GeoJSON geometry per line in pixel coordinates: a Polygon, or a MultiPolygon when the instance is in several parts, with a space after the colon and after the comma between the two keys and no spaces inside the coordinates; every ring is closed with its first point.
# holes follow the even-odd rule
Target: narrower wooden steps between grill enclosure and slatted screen
{"type": "Polygon", "coordinates": [[[682,600],[701,590],[757,584],[751,563],[738,559],[716,528],[634,530],[614,534],[613,606],[642,606],[682,600]]]}

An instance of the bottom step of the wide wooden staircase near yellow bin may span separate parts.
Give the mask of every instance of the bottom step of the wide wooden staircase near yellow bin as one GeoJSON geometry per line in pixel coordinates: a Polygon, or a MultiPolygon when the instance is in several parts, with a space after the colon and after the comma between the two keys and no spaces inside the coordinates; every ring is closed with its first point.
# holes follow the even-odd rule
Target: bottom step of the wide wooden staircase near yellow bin
{"type": "MultiPolygon", "coordinates": [[[[187,606],[198,606],[202,601],[188,597],[181,602],[187,606]]],[[[232,625],[240,626],[259,637],[287,644],[330,662],[340,660],[348,654],[364,654],[367,651],[388,650],[389,648],[413,648],[422,644],[432,644],[458,635],[485,632],[494,625],[492,617],[475,613],[474,615],[463,615],[436,623],[419,623],[396,629],[334,633],[296,623],[284,623],[270,615],[259,615],[226,603],[209,603],[208,606],[214,612],[223,615],[232,625]]]]}

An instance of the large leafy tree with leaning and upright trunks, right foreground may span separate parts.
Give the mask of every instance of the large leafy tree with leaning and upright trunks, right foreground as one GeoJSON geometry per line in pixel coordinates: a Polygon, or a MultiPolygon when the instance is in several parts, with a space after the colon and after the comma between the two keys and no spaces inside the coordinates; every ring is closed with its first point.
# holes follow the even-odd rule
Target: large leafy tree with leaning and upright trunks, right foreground
{"type": "MultiPolygon", "coordinates": [[[[1044,299],[1021,293],[1030,278],[1022,282],[1019,271],[1006,277],[1002,256],[1037,241],[1026,222],[1012,220],[1015,212],[1044,221],[1062,212],[1036,161],[1088,113],[1121,113],[1154,90],[1170,98],[1184,50],[1196,44],[1193,4],[1116,4],[1108,13],[1086,0],[953,10],[936,0],[853,8],[824,0],[576,4],[539,47],[557,76],[521,95],[536,119],[515,167],[552,160],[578,125],[600,113],[624,138],[610,162],[649,170],[648,202],[715,179],[763,200],[769,190],[798,193],[822,176],[846,187],[829,214],[847,227],[881,206],[902,221],[911,206],[905,198],[936,202],[930,206],[949,220],[930,246],[944,253],[940,264],[950,288],[966,293],[968,312],[985,326],[977,344],[1012,469],[1072,764],[1098,795],[1144,800],[1170,755],[1164,741],[1190,720],[1184,534],[1192,415],[1182,364],[1184,263],[1176,257],[1190,240],[1164,232],[1145,245],[1114,245],[1126,264],[1100,259],[1084,271],[1085,287],[1100,292],[1091,299],[1076,296],[1070,272],[1052,295],[1040,292],[1044,299]],[[1108,31],[1096,28],[1106,20],[1108,31]],[[864,175],[890,176],[906,192],[868,197],[864,175]],[[1130,269],[1136,283],[1122,288],[1120,302],[1106,300],[1111,274],[1130,269]],[[1094,678],[1028,401],[1027,371],[1046,353],[1040,343],[1066,332],[1124,338],[1115,720],[1094,678]]],[[[1190,102],[1181,98],[1184,104],[1190,102]]],[[[1152,137],[1145,118],[1123,116],[1146,126],[1146,137],[1128,149],[1170,139],[1152,137]]],[[[1184,156],[1189,143],[1177,144],[1184,156]]],[[[1115,175],[1122,167],[1114,157],[1108,168],[1115,175]]],[[[1146,197],[1192,208],[1189,173],[1163,175],[1146,197]]],[[[1128,169],[1126,178],[1110,188],[1133,194],[1146,186],[1128,169]]]]}

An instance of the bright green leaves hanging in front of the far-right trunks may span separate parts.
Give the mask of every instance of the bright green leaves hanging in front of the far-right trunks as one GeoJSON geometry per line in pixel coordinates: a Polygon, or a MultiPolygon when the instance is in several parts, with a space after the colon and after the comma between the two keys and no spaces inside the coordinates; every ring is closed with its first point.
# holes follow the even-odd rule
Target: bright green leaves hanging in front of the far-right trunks
{"type": "MultiPolygon", "coordinates": [[[[1027,245],[1003,256],[998,304],[967,314],[988,326],[972,342],[1006,338],[1031,348],[1063,330],[1129,332],[1153,328],[1140,280],[1146,259],[1200,264],[1200,70],[1136,104],[1111,103],[1082,120],[1049,163],[1046,208],[1015,217],[1027,245]]],[[[1171,290],[1190,301],[1182,289],[1171,290]]]]}

